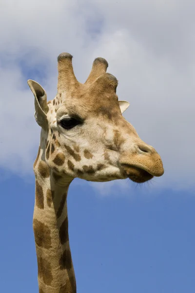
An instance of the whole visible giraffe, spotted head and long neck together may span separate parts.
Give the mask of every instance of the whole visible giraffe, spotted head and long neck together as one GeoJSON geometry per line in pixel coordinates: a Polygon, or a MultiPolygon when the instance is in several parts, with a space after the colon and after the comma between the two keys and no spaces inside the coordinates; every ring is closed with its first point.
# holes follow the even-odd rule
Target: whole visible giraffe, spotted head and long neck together
{"type": "Polygon", "coordinates": [[[118,101],[117,79],[107,67],[105,59],[95,59],[81,84],[72,55],[61,53],[57,96],[49,102],[41,85],[28,80],[41,127],[33,214],[39,293],[77,292],[67,215],[67,193],[74,178],[143,183],[164,173],[156,150],[122,116],[129,103],[118,101]]]}

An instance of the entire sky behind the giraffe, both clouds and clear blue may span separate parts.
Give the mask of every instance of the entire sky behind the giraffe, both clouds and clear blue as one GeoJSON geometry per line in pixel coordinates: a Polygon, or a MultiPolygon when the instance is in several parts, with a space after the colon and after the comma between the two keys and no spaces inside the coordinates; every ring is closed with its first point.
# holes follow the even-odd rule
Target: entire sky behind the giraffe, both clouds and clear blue
{"type": "Polygon", "coordinates": [[[1,2],[1,291],[38,292],[32,168],[40,129],[27,79],[53,99],[57,56],[67,51],[80,82],[96,57],[108,61],[119,100],[130,102],[124,117],[156,148],[165,168],[149,186],[71,184],[78,293],[194,293],[195,3],[1,2]]]}

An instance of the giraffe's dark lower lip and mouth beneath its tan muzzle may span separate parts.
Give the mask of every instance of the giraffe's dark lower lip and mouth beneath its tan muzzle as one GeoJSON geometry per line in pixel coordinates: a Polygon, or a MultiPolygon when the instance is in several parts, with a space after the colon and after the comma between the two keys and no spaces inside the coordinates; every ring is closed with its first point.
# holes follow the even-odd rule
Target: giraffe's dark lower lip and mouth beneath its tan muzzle
{"type": "Polygon", "coordinates": [[[128,164],[122,164],[122,167],[125,170],[128,178],[131,179],[133,182],[144,183],[154,177],[152,174],[140,167],[135,167],[128,164]]]}

